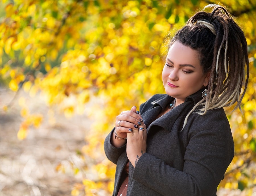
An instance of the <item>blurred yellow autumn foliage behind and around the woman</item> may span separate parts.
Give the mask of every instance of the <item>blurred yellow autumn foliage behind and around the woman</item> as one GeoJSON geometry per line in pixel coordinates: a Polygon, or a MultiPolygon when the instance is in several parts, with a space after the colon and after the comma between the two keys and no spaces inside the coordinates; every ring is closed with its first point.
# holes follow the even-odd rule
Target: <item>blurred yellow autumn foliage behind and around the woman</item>
{"type": "MultiPolygon", "coordinates": [[[[86,145],[79,153],[84,180],[74,186],[72,195],[112,193],[115,165],[106,159],[103,142],[115,116],[155,93],[164,93],[164,40],[208,4],[227,6],[245,33],[250,60],[243,114],[226,109],[235,157],[219,187],[252,195],[256,186],[255,1],[0,1],[1,86],[31,97],[40,94],[49,108],[58,107],[67,118],[85,112],[96,118],[85,130],[86,145]],[[92,99],[100,104],[86,105],[92,99]],[[87,171],[94,175],[87,176],[87,171]]],[[[1,112],[8,112],[11,105],[12,101],[1,112]]],[[[17,137],[22,140],[44,116],[31,113],[28,103],[20,105],[24,120],[17,137]]]]}

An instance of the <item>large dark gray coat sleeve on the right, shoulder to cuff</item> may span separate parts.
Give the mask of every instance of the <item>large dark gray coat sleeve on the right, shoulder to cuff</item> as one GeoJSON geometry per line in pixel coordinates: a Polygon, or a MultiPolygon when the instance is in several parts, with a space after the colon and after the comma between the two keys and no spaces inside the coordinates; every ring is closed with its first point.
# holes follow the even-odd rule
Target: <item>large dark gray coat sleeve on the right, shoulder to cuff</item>
{"type": "Polygon", "coordinates": [[[188,135],[183,171],[144,153],[134,169],[133,179],[162,195],[213,195],[234,157],[234,142],[226,123],[227,120],[223,129],[205,125],[201,130],[190,127],[193,131],[188,135]]]}

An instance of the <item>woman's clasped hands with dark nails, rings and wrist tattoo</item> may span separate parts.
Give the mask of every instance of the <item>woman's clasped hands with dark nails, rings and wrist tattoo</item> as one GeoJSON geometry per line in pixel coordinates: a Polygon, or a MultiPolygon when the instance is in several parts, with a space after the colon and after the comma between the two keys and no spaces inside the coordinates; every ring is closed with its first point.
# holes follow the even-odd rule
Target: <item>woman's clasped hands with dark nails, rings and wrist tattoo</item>
{"type": "Polygon", "coordinates": [[[126,153],[131,164],[135,167],[137,161],[143,153],[146,152],[146,125],[143,122],[141,114],[136,111],[136,107],[133,106],[131,110],[121,112],[116,117],[115,122],[115,142],[119,143],[125,141],[127,137],[126,153]]]}

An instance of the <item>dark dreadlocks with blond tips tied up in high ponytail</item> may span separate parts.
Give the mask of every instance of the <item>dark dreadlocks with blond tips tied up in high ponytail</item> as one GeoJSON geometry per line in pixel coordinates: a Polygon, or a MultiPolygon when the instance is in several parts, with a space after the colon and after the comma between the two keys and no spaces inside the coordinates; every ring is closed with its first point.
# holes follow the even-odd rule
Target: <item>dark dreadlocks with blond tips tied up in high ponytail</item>
{"type": "Polygon", "coordinates": [[[214,8],[211,13],[200,11],[194,14],[168,43],[168,49],[178,41],[197,50],[203,72],[210,72],[207,96],[187,114],[183,128],[189,115],[195,111],[203,115],[207,110],[231,106],[236,102],[233,110],[238,107],[241,110],[241,100],[249,79],[247,42],[243,31],[224,7],[207,5],[205,8],[208,7],[214,8]]]}

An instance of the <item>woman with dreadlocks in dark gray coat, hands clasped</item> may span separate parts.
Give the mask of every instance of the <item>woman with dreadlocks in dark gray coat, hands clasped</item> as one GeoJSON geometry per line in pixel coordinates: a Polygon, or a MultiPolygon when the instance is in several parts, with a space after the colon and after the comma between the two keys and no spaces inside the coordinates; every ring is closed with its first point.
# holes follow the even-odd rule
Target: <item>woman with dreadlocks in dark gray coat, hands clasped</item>
{"type": "Polygon", "coordinates": [[[216,195],[234,157],[223,107],[239,107],[249,62],[242,30],[226,9],[208,7],[168,43],[166,94],[116,117],[104,143],[117,164],[113,195],[216,195]]]}

